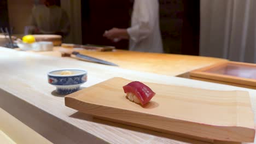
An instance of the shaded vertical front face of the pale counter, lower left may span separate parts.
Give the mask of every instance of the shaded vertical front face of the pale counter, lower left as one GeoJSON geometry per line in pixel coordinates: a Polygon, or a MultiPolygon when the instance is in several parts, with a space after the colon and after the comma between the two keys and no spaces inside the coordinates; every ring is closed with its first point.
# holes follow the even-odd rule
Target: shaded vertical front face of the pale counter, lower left
{"type": "Polygon", "coordinates": [[[33,105],[30,101],[26,101],[18,95],[11,94],[1,88],[0,107],[50,142],[63,144],[80,143],[81,141],[107,143],[105,140],[87,133],[72,123],[64,121],[63,118],[54,116],[39,106],[33,105]],[[59,134],[57,131],[63,131],[64,133],[59,134]],[[76,139],[73,139],[73,137],[76,139]],[[90,139],[88,139],[89,137],[90,139]]]}

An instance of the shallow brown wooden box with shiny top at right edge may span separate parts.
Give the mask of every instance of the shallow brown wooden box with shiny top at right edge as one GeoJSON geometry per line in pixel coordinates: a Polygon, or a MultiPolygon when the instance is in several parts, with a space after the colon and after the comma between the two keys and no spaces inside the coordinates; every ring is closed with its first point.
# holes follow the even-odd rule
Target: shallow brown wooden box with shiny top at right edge
{"type": "Polygon", "coordinates": [[[190,79],[256,89],[256,64],[223,62],[193,70],[190,79]]]}

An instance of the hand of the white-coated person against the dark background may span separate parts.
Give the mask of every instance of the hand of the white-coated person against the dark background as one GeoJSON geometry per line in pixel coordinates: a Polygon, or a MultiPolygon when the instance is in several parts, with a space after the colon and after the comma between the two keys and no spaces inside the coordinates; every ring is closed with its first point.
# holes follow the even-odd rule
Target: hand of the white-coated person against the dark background
{"type": "Polygon", "coordinates": [[[112,28],[109,31],[105,31],[103,37],[118,42],[121,39],[129,39],[129,34],[125,28],[112,28]]]}

